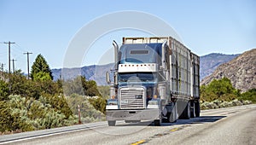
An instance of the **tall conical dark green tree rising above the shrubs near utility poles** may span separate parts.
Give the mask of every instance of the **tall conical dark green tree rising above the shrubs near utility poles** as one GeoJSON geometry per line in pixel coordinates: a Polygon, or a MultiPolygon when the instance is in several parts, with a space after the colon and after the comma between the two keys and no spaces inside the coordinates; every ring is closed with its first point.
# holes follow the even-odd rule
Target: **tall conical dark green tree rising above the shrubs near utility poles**
{"type": "Polygon", "coordinates": [[[43,55],[38,55],[36,60],[34,61],[32,65],[31,77],[32,79],[36,78],[41,80],[49,80],[49,78],[51,80],[53,79],[52,73],[49,69],[49,65],[47,61],[45,61],[43,55]]]}

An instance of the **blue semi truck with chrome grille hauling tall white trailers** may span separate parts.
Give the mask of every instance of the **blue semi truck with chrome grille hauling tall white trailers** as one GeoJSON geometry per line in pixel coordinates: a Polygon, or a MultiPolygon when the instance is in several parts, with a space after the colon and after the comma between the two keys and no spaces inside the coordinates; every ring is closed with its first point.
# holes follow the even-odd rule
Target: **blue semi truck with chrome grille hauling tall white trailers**
{"type": "Polygon", "coordinates": [[[198,55],[169,36],[123,38],[113,48],[114,68],[106,73],[109,126],[117,120],[161,125],[200,116],[198,55]]]}

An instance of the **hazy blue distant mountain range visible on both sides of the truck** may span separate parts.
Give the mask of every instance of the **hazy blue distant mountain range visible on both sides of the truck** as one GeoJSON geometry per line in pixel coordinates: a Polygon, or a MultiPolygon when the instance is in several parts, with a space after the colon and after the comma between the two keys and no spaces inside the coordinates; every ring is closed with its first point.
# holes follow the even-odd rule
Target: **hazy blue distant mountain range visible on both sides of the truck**
{"type": "MultiPolygon", "coordinates": [[[[201,56],[200,78],[202,79],[207,77],[207,75],[212,74],[219,65],[231,61],[236,56],[238,55],[224,55],[217,53],[201,56]]],[[[81,68],[52,69],[52,74],[55,80],[61,77],[62,71],[62,78],[64,79],[75,78],[78,75],[82,75],[85,76],[86,79],[95,80],[98,85],[106,85],[106,72],[109,72],[113,67],[113,63],[111,63],[108,65],[92,65],[81,68]]]]}

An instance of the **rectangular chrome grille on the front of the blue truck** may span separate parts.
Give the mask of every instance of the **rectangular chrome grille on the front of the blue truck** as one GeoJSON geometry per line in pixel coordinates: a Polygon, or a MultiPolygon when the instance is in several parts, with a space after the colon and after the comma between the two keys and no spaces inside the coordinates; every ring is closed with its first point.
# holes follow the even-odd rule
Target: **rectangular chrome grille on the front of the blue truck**
{"type": "Polygon", "coordinates": [[[137,109],[145,108],[145,91],[143,88],[121,88],[120,108],[137,109]]]}

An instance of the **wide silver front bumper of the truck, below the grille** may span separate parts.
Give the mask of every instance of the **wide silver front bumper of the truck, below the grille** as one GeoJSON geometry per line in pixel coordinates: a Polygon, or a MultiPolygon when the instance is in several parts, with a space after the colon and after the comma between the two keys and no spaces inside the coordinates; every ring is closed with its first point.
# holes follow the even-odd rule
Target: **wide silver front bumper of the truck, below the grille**
{"type": "Polygon", "coordinates": [[[154,120],[160,119],[160,109],[106,110],[107,120],[154,120]]]}

